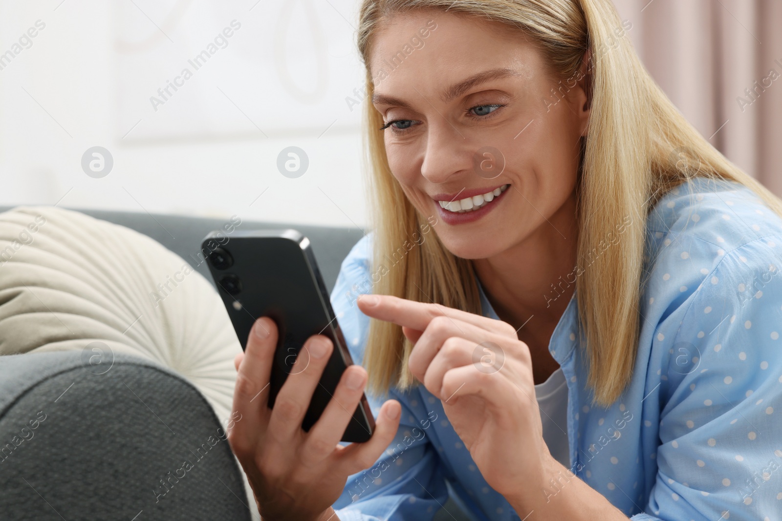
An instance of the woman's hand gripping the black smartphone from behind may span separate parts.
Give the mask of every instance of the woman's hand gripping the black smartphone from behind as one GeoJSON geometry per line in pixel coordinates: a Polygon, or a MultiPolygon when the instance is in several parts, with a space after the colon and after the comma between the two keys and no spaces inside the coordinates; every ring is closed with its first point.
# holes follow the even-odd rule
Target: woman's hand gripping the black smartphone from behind
{"type": "Polygon", "coordinates": [[[332,352],[324,335],[307,339],[291,373],[269,409],[269,377],[277,345],[274,320],[261,317],[250,331],[244,353],[236,356],[238,374],[232,417],[239,412],[228,442],[253,488],[264,521],[325,521],[336,516],[331,505],[348,476],[368,469],[393,441],[401,405],[386,401],[369,441],[339,444],[361,400],[366,370],[349,366],[317,422],[304,432],[301,423],[332,352]]]}

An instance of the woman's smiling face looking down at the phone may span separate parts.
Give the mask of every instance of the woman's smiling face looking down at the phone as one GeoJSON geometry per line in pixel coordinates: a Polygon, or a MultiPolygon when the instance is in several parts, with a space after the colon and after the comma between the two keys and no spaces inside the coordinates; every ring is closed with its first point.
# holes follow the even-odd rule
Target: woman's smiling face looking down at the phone
{"type": "Polygon", "coordinates": [[[583,79],[560,82],[501,23],[441,11],[384,22],[368,63],[386,155],[411,203],[437,216],[445,247],[484,259],[570,229],[589,114],[583,79]]]}

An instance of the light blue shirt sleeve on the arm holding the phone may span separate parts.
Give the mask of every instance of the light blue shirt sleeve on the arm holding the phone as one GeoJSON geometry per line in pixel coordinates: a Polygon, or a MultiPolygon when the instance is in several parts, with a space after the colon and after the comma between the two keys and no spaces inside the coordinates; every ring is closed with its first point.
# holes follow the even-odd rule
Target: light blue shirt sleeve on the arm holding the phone
{"type": "MultiPolygon", "coordinates": [[[[362,364],[369,317],[356,305],[362,293],[371,293],[369,273],[371,235],[358,241],[343,261],[332,290],[331,302],[353,363],[362,364]]],[[[416,391],[411,391],[416,393],[416,391]]],[[[416,393],[417,394],[417,393],[416,393]]],[[[411,394],[389,391],[400,401],[402,414],[396,437],[368,469],[348,477],[342,495],[332,505],[342,521],[429,521],[448,498],[443,463],[430,441],[430,424],[437,418],[416,418],[409,405],[411,394]]],[[[377,418],[386,398],[367,393],[372,415],[377,418]]]]}

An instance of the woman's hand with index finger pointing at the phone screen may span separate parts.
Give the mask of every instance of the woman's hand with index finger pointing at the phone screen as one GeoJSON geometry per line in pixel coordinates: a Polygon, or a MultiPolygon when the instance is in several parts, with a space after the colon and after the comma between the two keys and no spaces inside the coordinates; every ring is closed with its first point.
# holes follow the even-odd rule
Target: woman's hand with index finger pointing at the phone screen
{"type": "Polygon", "coordinates": [[[357,302],[365,315],[399,324],[414,343],[411,372],[443,402],[495,491],[511,501],[543,484],[552,458],[543,441],[532,359],[510,324],[391,295],[366,294],[357,302]]]}

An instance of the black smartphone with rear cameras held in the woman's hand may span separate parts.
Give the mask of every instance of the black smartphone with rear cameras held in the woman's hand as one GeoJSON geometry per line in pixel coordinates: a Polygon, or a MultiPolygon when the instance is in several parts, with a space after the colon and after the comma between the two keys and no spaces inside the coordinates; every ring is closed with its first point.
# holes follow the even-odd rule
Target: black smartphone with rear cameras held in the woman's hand
{"type": "MultiPolygon", "coordinates": [[[[246,348],[256,319],[268,316],[277,323],[278,343],[269,381],[270,408],[294,370],[293,362],[308,356],[307,351],[300,354],[307,338],[322,334],[331,339],[332,355],[302,422],[303,430],[309,432],[334,395],[340,376],[353,364],[310,241],[291,229],[242,230],[231,237],[213,231],[204,237],[201,252],[242,349],[246,348]]],[[[308,362],[308,358],[303,362],[308,362]]],[[[368,441],[374,431],[375,419],[366,394],[362,394],[342,441],[368,441]]]]}

